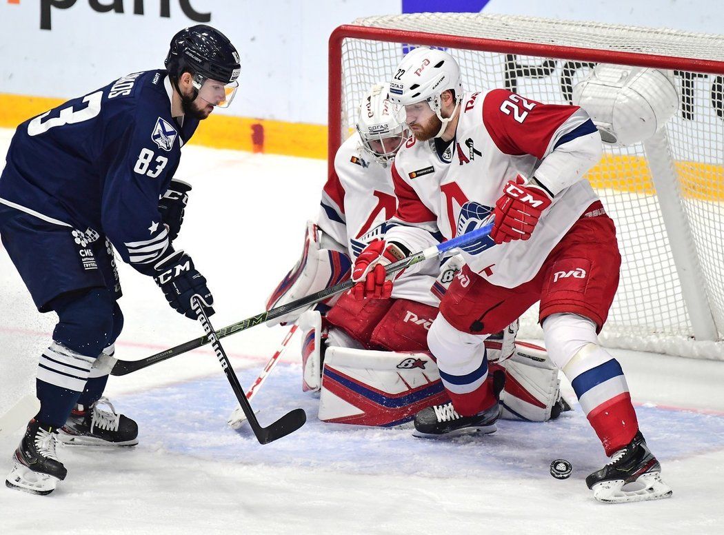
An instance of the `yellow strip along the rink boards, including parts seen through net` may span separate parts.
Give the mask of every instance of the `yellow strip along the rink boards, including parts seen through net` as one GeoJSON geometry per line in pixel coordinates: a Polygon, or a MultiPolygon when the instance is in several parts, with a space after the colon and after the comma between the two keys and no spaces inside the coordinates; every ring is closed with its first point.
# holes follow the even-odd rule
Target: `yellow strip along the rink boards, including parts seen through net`
{"type": "MultiPolygon", "coordinates": [[[[0,93],[0,127],[14,128],[29,117],[62,104],[59,98],[0,93]]],[[[327,158],[327,126],[212,115],[201,122],[192,144],[304,158],[327,158]]],[[[681,192],[699,201],[724,201],[724,166],[675,162],[681,192]]],[[[642,156],[605,154],[586,177],[597,189],[654,195],[647,161],[642,156]]]]}

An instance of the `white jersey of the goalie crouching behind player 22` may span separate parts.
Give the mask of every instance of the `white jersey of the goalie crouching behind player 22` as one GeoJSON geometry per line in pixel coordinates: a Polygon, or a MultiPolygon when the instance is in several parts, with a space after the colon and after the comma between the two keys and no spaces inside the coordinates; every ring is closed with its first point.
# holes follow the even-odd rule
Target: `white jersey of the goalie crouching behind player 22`
{"type": "MultiPolygon", "coordinates": [[[[345,248],[353,261],[368,243],[384,237],[388,221],[397,210],[390,167],[382,167],[361,145],[361,138],[355,133],[337,150],[334,174],[322,190],[317,219],[319,228],[345,248]]],[[[322,246],[330,248],[324,240],[322,246]]],[[[392,298],[438,306],[439,298],[430,289],[439,274],[439,264],[426,264],[412,276],[403,272],[395,280],[392,298]]]]}

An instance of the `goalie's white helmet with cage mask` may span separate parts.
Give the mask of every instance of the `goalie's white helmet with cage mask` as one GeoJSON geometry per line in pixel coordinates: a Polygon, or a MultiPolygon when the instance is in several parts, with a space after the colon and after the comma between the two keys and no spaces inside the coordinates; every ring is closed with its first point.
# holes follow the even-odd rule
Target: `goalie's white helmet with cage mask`
{"type": "Polygon", "coordinates": [[[360,104],[357,131],[362,138],[363,149],[383,167],[395,158],[395,154],[410,136],[405,125],[405,110],[392,104],[387,96],[387,85],[373,85],[360,104]]]}

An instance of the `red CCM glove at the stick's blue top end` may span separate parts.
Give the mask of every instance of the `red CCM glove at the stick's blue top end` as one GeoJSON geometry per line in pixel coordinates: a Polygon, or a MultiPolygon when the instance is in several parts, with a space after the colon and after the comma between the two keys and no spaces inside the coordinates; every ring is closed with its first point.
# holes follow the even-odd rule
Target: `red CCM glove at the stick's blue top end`
{"type": "Polygon", "coordinates": [[[495,203],[495,222],[490,237],[495,243],[527,240],[543,211],[551,205],[550,195],[534,184],[525,184],[518,174],[509,180],[495,203]]]}

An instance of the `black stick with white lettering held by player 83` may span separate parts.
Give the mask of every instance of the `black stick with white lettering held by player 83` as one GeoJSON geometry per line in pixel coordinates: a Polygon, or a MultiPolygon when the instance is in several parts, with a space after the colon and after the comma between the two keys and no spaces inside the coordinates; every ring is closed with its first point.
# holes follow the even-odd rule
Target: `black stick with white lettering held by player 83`
{"type": "Polygon", "coordinates": [[[191,297],[191,308],[193,308],[195,313],[198,314],[198,321],[201,323],[203,330],[206,332],[206,336],[209,337],[209,340],[211,340],[211,347],[214,347],[216,358],[219,359],[219,362],[224,370],[224,374],[226,374],[227,379],[229,379],[232,390],[234,391],[237,400],[239,400],[239,405],[241,405],[241,408],[249,421],[249,425],[254,431],[254,435],[256,435],[256,439],[259,443],[269,444],[269,442],[286,437],[287,434],[293,433],[303,426],[307,421],[307,415],[303,409],[294,409],[291,412],[286,413],[282,416],[282,418],[279,418],[279,420],[275,421],[274,424],[271,424],[270,426],[262,427],[259,424],[249,400],[246,399],[244,389],[239,384],[239,379],[234,373],[234,368],[231,367],[229,357],[227,357],[224,347],[222,347],[221,342],[219,342],[219,337],[216,336],[214,327],[211,326],[209,316],[206,315],[206,310],[203,308],[204,304],[205,303],[203,303],[203,299],[200,295],[193,295],[191,297]]]}

